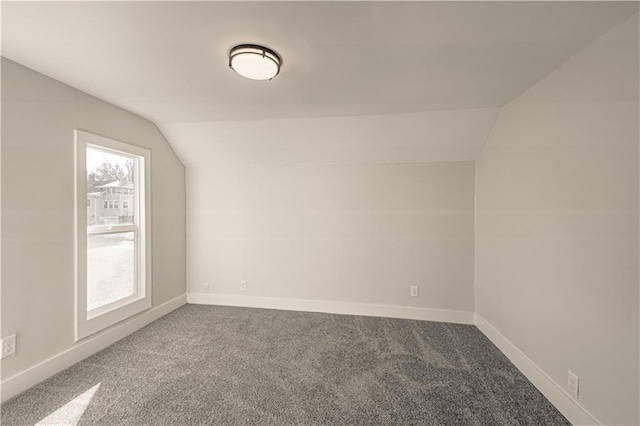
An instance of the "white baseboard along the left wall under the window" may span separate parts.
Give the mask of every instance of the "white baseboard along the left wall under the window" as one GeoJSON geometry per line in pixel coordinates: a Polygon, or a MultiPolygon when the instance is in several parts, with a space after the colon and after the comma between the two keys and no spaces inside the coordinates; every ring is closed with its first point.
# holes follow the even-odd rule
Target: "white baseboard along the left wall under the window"
{"type": "Polygon", "coordinates": [[[187,303],[186,294],[141,312],[133,318],[109,327],[95,336],[83,339],[72,348],[5,379],[0,383],[0,400],[4,402],[13,398],[54,374],[127,337],[185,303],[187,303]]]}

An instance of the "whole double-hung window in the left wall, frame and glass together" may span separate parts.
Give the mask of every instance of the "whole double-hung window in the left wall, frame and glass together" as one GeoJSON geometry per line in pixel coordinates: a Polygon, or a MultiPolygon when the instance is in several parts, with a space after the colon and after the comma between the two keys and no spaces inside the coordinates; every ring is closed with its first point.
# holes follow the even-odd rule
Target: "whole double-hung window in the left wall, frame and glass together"
{"type": "MultiPolygon", "coordinates": [[[[77,206],[96,187],[132,187],[127,216],[76,209],[76,340],[151,307],[149,161],[148,150],[76,130],[77,206]]],[[[118,205],[103,200],[105,209],[118,205]]]]}

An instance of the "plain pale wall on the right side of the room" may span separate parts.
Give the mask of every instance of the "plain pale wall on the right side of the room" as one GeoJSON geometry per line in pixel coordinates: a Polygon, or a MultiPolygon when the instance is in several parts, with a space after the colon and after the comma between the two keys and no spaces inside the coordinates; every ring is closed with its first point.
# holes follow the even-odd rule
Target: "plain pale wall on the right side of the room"
{"type": "Polygon", "coordinates": [[[637,15],[503,108],[477,161],[476,310],[638,424],[637,15]]]}

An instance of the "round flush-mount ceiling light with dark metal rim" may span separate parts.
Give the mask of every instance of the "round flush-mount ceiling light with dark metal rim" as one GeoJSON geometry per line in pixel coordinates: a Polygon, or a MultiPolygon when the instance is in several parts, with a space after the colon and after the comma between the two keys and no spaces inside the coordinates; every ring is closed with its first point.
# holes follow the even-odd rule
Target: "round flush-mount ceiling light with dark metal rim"
{"type": "Polygon", "coordinates": [[[271,80],[281,64],[276,52],[257,44],[240,44],[229,52],[229,68],[251,80],[271,80]]]}

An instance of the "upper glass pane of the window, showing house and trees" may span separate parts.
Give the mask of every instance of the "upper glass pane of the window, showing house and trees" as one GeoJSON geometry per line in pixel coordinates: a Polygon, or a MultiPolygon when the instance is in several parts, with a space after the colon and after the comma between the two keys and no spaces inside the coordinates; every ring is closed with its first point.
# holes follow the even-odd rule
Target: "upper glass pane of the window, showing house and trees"
{"type": "Polygon", "coordinates": [[[87,147],[87,226],[135,223],[136,157],[87,147]],[[127,207],[125,208],[125,201],[127,207]]]}

